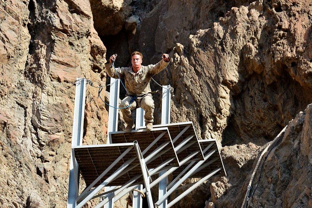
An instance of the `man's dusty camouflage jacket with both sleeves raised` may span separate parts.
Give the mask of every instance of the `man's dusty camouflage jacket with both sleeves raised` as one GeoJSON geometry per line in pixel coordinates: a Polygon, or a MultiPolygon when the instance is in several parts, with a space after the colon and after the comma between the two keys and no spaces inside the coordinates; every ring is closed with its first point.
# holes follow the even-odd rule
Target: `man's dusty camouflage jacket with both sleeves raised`
{"type": "MultiPolygon", "coordinates": [[[[157,64],[141,66],[140,70],[134,74],[131,67],[116,68],[120,78],[124,79],[125,87],[130,95],[143,95],[151,92],[149,82],[152,77],[161,72],[170,63],[165,62],[163,59],[157,64]]],[[[106,72],[110,77],[118,79],[117,72],[115,71],[112,63],[105,63],[106,72]]]]}

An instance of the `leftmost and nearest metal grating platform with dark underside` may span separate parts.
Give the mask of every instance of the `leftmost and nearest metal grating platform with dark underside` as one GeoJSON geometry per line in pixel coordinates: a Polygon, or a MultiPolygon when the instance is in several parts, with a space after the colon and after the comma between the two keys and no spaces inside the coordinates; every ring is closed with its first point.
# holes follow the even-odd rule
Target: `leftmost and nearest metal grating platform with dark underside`
{"type": "MultiPolygon", "coordinates": [[[[129,168],[122,175],[111,181],[109,183],[110,186],[121,186],[135,175],[142,173],[133,143],[83,145],[73,147],[73,149],[81,175],[87,186],[95,181],[113,163],[115,165],[94,186],[100,185],[127,161],[131,161],[128,165],[129,168]],[[123,153],[125,155],[119,161],[116,161],[123,153]]],[[[140,178],[138,181],[142,180],[140,178]]]]}

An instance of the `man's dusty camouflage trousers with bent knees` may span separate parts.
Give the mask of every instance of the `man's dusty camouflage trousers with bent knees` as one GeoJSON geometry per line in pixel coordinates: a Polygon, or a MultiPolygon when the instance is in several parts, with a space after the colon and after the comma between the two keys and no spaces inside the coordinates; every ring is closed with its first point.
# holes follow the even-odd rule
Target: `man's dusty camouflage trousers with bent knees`
{"type": "MultiPolygon", "coordinates": [[[[124,108],[129,106],[130,101],[131,101],[131,97],[127,96],[125,97],[120,105],[119,108],[124,108]]],[[[131,110],[136,109],[136,108],[143,108],[145,111],[145,115],[144,115],[144,119],[145,119],[145,123],[153,123],[154,122],[154,100],[153,100],[153,96],[151,94],[146,94],[143,97],[137,97],[129,106],[129,108],[124,108],[124,109],[120,109],[121,113],[122,113],[122,117],[124,119],[124,122],[129,125],[129,124],[133,124],[133,116],[131,114],[131,110]]]]}

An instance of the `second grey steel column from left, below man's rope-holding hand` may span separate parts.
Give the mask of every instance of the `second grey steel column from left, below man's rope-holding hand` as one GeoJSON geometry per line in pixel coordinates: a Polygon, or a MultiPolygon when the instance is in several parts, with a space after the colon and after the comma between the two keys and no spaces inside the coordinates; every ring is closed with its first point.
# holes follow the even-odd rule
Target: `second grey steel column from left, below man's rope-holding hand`
{"type": "MultiPolygon", "coordinates": [[[[118,127],[118,112],[119,109],[119,86],[120,80],[115,78],[110,78],[110,106],[108,109],[108,131],[107,131],[107,144],[110,144],[111,141],[109,139],[108,134],[110,132],[116,132],[118,127]],[[113,106],[113,107],[111,107],[113,106]]],[[[110,191],[114,187],[107,186],[105,187],[105,191],[110,191]]],[[[106,198],[106,197],[105,197],[106,198]]],[[[108,203],[104,205],[104,208],[114,208],[114,198],[112,198],[108,203]]]]}

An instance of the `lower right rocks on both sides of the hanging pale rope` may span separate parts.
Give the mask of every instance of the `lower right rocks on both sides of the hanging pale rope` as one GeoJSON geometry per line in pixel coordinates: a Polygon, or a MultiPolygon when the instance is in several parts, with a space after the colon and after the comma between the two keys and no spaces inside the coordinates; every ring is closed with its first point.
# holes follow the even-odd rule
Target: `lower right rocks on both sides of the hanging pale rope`
{"type": "Polygon", "coordinates": [[[258,153],[263,148],[252,143],[223,148],[223,162],[231,177],[212,183],[211,203],[215,207],[241,207],[256,171],[248,207],[310,207],[311,119],[312,104],[288,123],[285,133],[260,158],[256,170],[258,153]]]}

